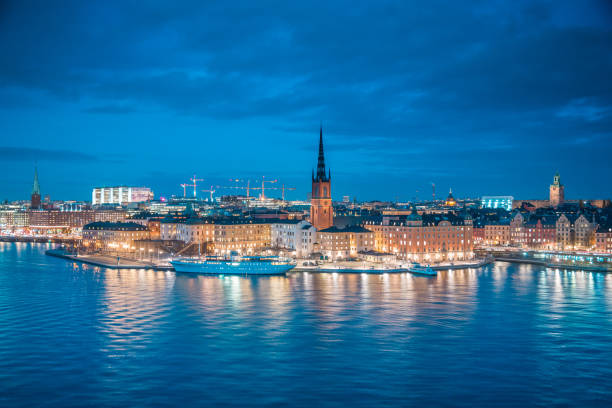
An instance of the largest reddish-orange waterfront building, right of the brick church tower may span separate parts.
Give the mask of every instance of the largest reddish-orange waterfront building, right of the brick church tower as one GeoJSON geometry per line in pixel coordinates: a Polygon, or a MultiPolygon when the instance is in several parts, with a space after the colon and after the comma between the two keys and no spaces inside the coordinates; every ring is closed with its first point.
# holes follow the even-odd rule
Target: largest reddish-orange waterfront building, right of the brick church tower
{"type": "Polygon", "coordinates": [[[384,216],[382,221],[366,221],[374,232],[375,250],[417,262],[471,259],[474,256],[473,220],[453,213],[384,216]]]}

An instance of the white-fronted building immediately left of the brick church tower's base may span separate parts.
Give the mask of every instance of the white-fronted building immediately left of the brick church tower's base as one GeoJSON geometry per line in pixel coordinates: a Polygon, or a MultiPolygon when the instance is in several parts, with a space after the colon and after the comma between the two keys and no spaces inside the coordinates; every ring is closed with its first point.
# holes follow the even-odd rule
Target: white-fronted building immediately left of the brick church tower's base
{"type": "Polygon", "coordinates": [[[312,253],[317,230],[307,221],[279,220],[271,225],[271,246],[294,252],[301,258],[312,253]]]}

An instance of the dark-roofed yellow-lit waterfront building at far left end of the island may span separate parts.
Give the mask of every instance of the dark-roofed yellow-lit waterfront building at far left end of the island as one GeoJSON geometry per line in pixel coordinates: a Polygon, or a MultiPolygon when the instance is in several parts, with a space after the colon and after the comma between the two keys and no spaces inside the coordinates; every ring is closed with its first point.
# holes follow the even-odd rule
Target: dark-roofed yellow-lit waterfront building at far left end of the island
{"type": "Polygon", "coordinates": [[[135,222],[93,222],[83,227],[83,246],[88,250],[136,253],[135,241],[148,239],[146,227],[135,222]]]}

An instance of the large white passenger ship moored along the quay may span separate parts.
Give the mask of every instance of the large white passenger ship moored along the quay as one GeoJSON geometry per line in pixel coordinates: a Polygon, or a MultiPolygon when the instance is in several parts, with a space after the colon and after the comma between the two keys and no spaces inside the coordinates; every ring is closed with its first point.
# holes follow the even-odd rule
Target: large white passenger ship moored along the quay
{"type": "Polygon", "coordinates": [[[170,262],[176,272],[206,275],[284,275],[295,263],[276,256],[181,258],[170,262]]]}

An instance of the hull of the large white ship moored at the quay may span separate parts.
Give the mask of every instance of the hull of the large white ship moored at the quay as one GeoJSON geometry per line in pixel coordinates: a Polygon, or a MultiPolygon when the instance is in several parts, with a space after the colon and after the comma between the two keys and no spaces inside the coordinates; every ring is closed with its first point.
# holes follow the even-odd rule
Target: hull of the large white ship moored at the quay
{"type": "Polygon", "coordinates": [[[272,262],[170,262],[176,272],[196,273],[203,275],[284,275],[295,265],[272,262]]]}

